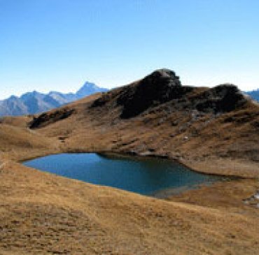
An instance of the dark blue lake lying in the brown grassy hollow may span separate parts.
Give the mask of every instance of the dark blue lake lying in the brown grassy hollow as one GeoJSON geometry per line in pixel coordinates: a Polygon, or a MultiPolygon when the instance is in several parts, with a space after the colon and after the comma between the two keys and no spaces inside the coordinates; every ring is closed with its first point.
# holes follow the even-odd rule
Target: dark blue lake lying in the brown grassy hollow
{"type": "Polygon", "coordinates": [[[204,175],[168,159],[104,156],[95,153],[56,154],[24,162],[39,170],[76,180],[152,196],[156,192],[208,184],[222,177],[204,175]]]}

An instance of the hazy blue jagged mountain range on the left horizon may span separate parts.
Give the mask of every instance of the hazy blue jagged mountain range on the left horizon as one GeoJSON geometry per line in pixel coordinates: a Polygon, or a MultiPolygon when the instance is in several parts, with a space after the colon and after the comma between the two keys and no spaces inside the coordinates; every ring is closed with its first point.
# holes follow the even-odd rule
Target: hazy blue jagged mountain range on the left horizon
{"type": "Polygon", "coordinates": [[[106,92],[108,89],[98,87],[94,83],[85,82],[76,93],[63,94],[61,92],[28,92],[22,96],[10,96],[8,99],[0,101],[0,116],[19,116],[45,112],[57,108],[66,103],[71,103],[85,96],[97,92],[106,92]]]}

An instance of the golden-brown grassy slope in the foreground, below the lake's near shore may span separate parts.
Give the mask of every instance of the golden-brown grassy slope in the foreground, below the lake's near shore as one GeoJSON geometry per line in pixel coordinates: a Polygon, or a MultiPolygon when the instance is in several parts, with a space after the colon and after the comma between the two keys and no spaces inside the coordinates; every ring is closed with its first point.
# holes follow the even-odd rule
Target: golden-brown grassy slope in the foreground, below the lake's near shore
{"type": "MultiPolygon", "coordinates": [[[[0,253],[257,254],[256,209],[157,200],[55,177],[18,163],[1,168],[0,253]]],[[[241,203],[241,201],[240,201],[241,203]]]]}

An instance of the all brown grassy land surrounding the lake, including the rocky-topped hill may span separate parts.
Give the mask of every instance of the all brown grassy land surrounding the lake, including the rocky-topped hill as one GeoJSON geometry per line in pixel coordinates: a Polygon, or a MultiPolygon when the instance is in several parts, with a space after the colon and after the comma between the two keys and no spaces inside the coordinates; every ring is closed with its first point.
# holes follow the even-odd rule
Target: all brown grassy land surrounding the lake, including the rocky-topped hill
{"type": "Polygon", "coordinates": [[[233,86],[181,87],[162,70],[43,115],[2,119],[0,254],[258,254],[259,212],[242,202],[258,189],[255,180],[163,201],[18,163],[58,152],[130,152],[256,177],[258,115],[233,86]]]}

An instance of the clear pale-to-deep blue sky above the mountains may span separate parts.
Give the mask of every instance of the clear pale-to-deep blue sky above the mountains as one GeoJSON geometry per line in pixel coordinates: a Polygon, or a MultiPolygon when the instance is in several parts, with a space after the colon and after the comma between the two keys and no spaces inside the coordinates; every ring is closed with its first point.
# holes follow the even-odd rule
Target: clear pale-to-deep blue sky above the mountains
{"type": "Polygon", "coordinates": [[[258,88],[259,1],[0,0],[0,99],[162,67],[183,85],[258,88]]]}

